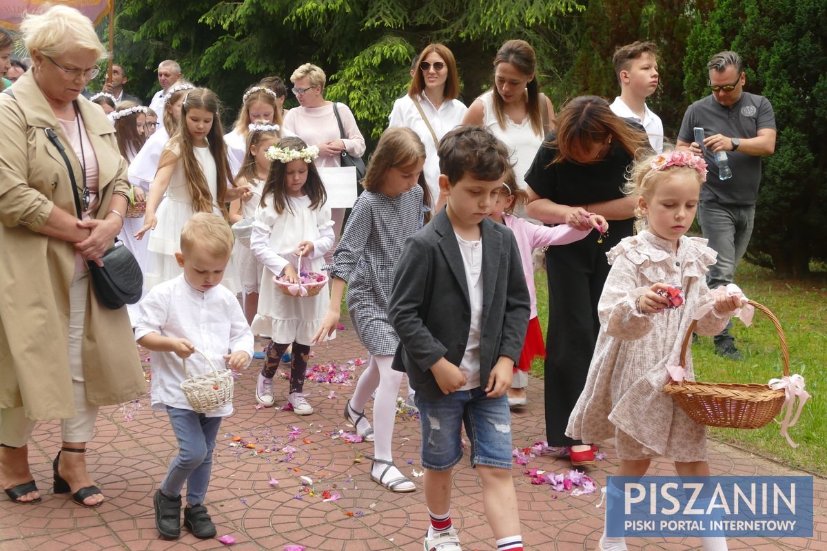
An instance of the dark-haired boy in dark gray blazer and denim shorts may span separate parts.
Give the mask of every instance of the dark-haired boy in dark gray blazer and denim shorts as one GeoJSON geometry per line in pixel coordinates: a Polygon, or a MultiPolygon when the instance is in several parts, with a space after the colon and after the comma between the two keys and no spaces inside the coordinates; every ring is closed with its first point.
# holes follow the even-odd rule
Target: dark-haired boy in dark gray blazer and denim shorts
{"type": "Polygon", "coordinates": [[[488,218],[509,152],[487,128],[458,126],[442,138],[439,159],[447,205],[405,244],[388,312],[400,340],[393,367],[408,373],[422,425],[431,516],[423,548],[461,551],[450,508],[464,420],[497,549],[522,551],[506,392],[528,327],[528,289],[514,235],[488,218]]]}

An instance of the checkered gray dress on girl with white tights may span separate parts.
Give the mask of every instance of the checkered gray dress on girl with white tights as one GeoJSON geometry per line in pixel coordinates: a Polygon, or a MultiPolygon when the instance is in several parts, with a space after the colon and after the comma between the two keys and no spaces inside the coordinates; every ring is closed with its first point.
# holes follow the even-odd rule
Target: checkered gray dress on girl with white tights
{"type": "Polygon", "coordinates": [[[420,227],[422,197],[419,186],[396,198],[363,192],[333,253],[329,272],[347,281],[347,311],[370,354],[394,354],[399,344],[388,302],[405,240],[420,227]]]}

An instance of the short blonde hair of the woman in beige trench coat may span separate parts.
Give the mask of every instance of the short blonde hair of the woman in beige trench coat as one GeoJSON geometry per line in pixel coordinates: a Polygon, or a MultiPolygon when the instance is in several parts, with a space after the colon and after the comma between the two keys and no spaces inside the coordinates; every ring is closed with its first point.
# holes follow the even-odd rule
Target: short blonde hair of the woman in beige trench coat
{"type": "Polygon", "coordinates": [[[107,59],[108,51],[101,44],[92,21],[68,6],[52,6],[42,13],[26,13],[20,24],[23,45],[31,53],[58,57],[69,50],[93,51],[98,59],[107,59]]]}

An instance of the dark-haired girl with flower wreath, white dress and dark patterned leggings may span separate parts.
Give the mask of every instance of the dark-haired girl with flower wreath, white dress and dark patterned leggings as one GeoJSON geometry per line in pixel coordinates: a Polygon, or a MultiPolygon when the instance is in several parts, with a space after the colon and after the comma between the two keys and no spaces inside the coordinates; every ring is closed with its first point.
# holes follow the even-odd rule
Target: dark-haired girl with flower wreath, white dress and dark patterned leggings
{"type": "Polygon", "coordinates": [[[299,138],[284,138],[279,145],[271,145],[266,155],[272,164],[250,238],[250,249],[265,265],[252,330],[255,335],[270,337],[271,342],[256,384],[256,400],[266,407],[275,406],[273,378],[282,354],[293,344],[287,400],[293,411],[305,416],[313,413],[303,395],[310,344],[330,296],[327,284],[314,297],[285,295],[276,288],[273,277],[299,283],[302,274],[320,273],[324,254],[333,246],[333,221],[325,204],[322,178],[313,164],[318,157],[315,145],[308,147],[299,138]]]}

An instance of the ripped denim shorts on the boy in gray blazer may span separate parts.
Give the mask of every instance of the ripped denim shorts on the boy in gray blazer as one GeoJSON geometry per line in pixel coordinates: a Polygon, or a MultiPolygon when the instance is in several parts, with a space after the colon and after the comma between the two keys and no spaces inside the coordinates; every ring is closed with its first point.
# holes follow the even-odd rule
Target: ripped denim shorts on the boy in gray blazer
{"type": "Polygon", "coordinates": [[[414,395],[422,426],[422,464],[447,471],[462,458],[461,430],[465,422],[471,441],[471,466],[511,469],[511,411],[507,395],[485,396],[482,387],[429,399],[414,395]]]}

